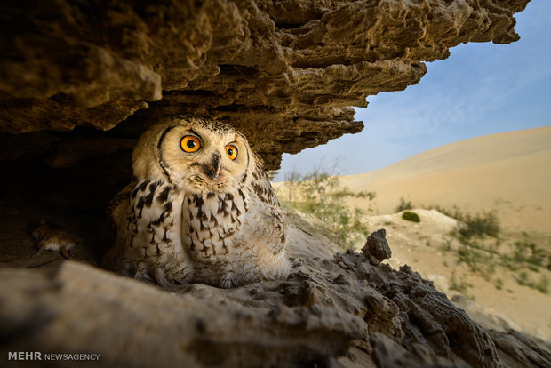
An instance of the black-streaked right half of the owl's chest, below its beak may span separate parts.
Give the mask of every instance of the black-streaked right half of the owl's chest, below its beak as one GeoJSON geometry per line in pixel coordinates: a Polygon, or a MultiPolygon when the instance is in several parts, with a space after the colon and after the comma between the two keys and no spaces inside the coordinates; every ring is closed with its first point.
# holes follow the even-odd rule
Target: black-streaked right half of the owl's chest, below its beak
{"type": "Polygon", "coordinates": [[[240,246],[239,234],[247,211],[248,197],[241,189],[185,196],[182,243],[196,260],[223,258],[240,246]]]}

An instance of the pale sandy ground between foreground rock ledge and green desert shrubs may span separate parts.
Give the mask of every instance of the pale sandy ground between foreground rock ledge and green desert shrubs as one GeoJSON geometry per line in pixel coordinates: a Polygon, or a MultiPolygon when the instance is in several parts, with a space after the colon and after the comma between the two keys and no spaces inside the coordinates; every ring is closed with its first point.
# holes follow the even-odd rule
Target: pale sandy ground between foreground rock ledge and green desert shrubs
{"type": "MultiPolygon", "coordinates": [[[[403,264],[410,265],[486,327],[507,329],[509,326],[551,341],[551,295],[518,284],[515,273],[505,268],[496,268],[491,276],[475,274],[466,264],[459,263],[456,253],[444,250],[446,246],[459,247],[459,241],[449,235],[457,221],[435,210],[414,209],[413,212],[419,214],[419,223],[403,220],[401,212],[365,219],[370,231],[387,229],[392,250],[388,264],[396,269],[403,264]],[[452,274],[457,282],[463,280],[472,285],[463,297],[459,297],[460,292],[451,290],[452,274]],[[503,280],[501,290],[495,285],[497,278],[503,280]]],[[[362,246],[358,244],[356,250],[362,246]]],[[[542,269],[539,274],[542,273],[551,279],[551,272],[542,269]]]]}

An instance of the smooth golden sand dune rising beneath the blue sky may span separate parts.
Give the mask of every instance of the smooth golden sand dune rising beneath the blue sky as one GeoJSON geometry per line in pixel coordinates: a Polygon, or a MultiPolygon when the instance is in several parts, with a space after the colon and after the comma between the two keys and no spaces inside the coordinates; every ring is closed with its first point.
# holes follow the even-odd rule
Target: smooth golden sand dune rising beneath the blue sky
{"type": "Polygon", "coordinates": [[[416,206],[495,209],[508,232],[551,235],[551,126],[462,140],[341,181],[377,192],[379,214],[395,212],[404,197],[416,206]]]}

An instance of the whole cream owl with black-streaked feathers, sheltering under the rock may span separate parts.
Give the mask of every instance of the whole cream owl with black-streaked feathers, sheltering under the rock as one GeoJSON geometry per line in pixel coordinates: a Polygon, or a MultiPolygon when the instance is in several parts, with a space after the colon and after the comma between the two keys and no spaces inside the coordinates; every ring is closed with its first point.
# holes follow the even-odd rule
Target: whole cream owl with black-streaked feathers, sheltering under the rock
{"type": "Polygon", "coordinates": [[[109,204],[116,244],[104,265],[161,285],[230,288],[284,278],[287,222],[240,132],[171,116],[132,153],[135,180],[109,204]]]}

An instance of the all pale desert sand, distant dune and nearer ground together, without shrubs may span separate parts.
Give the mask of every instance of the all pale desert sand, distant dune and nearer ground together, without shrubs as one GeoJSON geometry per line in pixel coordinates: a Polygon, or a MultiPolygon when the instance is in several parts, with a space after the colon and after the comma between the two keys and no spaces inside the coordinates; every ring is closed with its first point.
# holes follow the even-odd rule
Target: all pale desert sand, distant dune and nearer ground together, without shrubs
{"type": "MultiPolygon", "coordinates": [[[[462,212],[496,211],[502,227],[501,250],[519,239],[551,252],[551,126],[483,136],[434,148],[375,172],[341,177],[352,191],[374,191],[373,202],[354,198],[350,205],[373,208],[363,221],[370,231],[387,229],[393,268],[408,264],[448,294],[475,320],[496,329],[510,326],[551,341],[551,295],[518,284],[519,272],[498,267],[490,276],[459,263],[459,241],[450,232],[457,221],[430,205],[462,212]],[[419,224],[395,213],[400,198],[418,209],[419,224]],[[462,294],[451,279],[467,284],[462,294]],[[500,290],[496,283],[503,283],[500,290]]],[[[275,188],[281,183],[275,183],[275,188]]],[[[283,189],[283,188],[282,188],[283,189]]],[[[358,244],[361,249],[363,244],[358,244]]],[[[530,272],[530,271],[529,271],[530,272]]],[[[540,268],[532,277],[547,277],[540,268]]]]}

